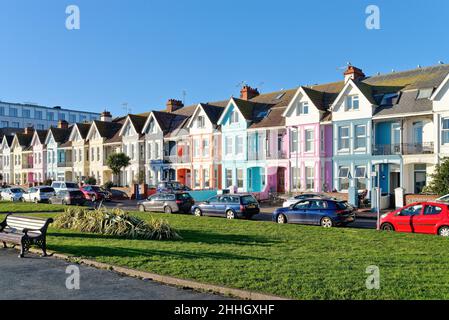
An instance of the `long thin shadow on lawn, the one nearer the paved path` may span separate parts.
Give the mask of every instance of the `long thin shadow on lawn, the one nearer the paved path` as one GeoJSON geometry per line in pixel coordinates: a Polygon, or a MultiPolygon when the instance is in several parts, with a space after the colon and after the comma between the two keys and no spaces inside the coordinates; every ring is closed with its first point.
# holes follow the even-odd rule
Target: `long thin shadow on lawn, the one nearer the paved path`
{"type": "Polygon", "coordinates": [[[213,259],[213,260],[268,260],[266,258],[252,257],[246,255],[236,255],[224,252],[188,252],[180,250],[158,250],[158,249],[137,249],[123,247],[106,246],[85,246],[85,245],[50,245],[49,249],[57,252],[71,254],[78,257],[119,257],[119,258],[154,258],[168,257],[171,259],[213,259]]]}

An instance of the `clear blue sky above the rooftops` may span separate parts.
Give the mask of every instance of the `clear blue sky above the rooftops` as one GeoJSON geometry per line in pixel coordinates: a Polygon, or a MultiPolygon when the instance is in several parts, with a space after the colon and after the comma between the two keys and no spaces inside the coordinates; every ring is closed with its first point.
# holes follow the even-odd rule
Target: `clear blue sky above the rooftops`
{"type": "Polygon", "coordinates": [[[0,100],[90,111],[161,109],[449,63],[449,1],[0,0],[0,100]],[[78,5],[81,29],[65,28],[78,5]],[[381,29],[365,28],[365,8],[381,29]],[[445,32],[446,31],[446,32],[445,32]]]}

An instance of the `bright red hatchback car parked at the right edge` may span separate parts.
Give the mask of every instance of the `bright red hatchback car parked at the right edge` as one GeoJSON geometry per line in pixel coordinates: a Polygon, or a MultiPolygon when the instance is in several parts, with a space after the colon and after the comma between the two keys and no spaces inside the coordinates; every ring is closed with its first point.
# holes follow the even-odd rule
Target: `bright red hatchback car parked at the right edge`
{"type": "Polygon", "coordinates": [[[437,234],[449,237],[449,207],[440,202],[418,202],[387,213],[380,220],[385,231],[437,234]]]}

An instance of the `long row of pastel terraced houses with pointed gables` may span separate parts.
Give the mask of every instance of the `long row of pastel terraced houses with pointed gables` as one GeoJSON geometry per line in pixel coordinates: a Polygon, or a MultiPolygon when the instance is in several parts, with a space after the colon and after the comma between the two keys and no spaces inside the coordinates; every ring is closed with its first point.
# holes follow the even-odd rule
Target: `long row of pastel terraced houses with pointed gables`
{"type": "Polygon", "coordinates": [[[25,129],[5,135],[0,170],[8,184],[46,179],[121,185],[177,180],[193,189],[268,194],[350,186],[420,193],[449,156],[449,65],[365,76],[348,66],[333,83],[164,111],[25,129]],[[112,153],[131,158],[120,176],[112,153]]]}

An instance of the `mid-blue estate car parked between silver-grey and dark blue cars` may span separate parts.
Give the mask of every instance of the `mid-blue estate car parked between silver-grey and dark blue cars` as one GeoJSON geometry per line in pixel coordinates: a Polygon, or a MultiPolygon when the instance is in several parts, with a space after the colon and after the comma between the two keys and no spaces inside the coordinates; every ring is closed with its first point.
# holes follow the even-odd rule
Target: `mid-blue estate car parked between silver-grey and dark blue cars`
{"type": "Polygon", "coordinates": [[[217,216],[228,219],[251,219],[260,213],[259,203],[250,194],[222,195],[194,205],[192,213],[195,216],[217,216]]]}

